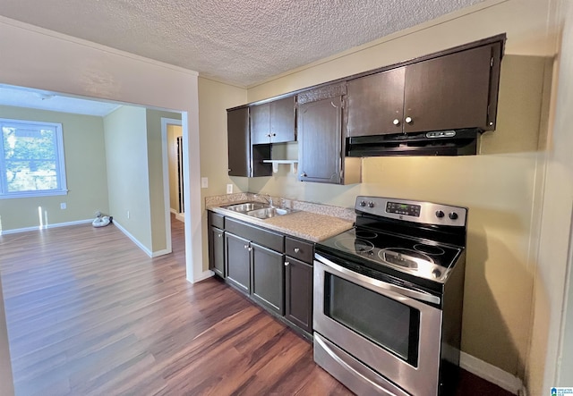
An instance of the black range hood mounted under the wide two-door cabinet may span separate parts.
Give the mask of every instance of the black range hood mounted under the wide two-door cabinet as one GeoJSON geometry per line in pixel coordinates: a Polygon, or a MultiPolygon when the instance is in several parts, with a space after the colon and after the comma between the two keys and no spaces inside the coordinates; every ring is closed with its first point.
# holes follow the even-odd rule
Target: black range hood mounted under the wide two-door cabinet
{"type": "Polygon", "coordinates": [[[472,156],[480,129],[346,138],[346,156],[472,156]]]}

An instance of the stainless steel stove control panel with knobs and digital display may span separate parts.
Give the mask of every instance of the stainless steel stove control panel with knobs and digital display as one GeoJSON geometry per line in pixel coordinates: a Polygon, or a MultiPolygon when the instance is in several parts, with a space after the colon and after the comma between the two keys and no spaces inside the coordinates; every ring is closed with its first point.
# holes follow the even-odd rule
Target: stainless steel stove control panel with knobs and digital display
{"type": "Polygon", "coordinates": [[[465,226],[467,208],[381,197],[356,197],[357,213],[367,213],[415,223],[465,226]]]}

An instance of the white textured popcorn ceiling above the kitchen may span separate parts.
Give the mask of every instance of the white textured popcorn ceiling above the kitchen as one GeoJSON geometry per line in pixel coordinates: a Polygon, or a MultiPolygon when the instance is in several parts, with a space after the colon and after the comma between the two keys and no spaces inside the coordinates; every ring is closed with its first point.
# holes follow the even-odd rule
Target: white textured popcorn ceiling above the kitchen
{"type": "Polygon", "coordinates": [[[251,86],[483,0],[0,0],[0,15],[251,86]]]}

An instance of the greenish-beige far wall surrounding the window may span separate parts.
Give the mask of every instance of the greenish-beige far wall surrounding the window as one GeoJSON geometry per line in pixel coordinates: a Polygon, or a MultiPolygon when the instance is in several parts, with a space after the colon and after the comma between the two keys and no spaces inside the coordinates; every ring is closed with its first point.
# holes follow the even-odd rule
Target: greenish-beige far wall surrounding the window
{"type": "Polygon", "coordinates": [[[0,105],[0,117],[38,122],[61,122],[64,134],[68,194],[53,197],[0,199],[2,230],[39,225],[38,206],[47,223],[89,220],[97,211],[107,213],[107,170],[103,119],[79,114],[47,112],[0,105]],[[65,202],[67,208],[60,209],[65,202]]]}

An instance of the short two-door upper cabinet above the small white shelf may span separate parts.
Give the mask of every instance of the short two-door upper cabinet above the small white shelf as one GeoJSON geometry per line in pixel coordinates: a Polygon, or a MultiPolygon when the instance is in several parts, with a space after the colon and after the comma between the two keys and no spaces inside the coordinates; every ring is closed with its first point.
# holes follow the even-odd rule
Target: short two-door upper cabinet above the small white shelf
{"type": "Polygon", "coordinates": [[[295,97],[251,105],[252,144],[295,141],[295,97]]]}

